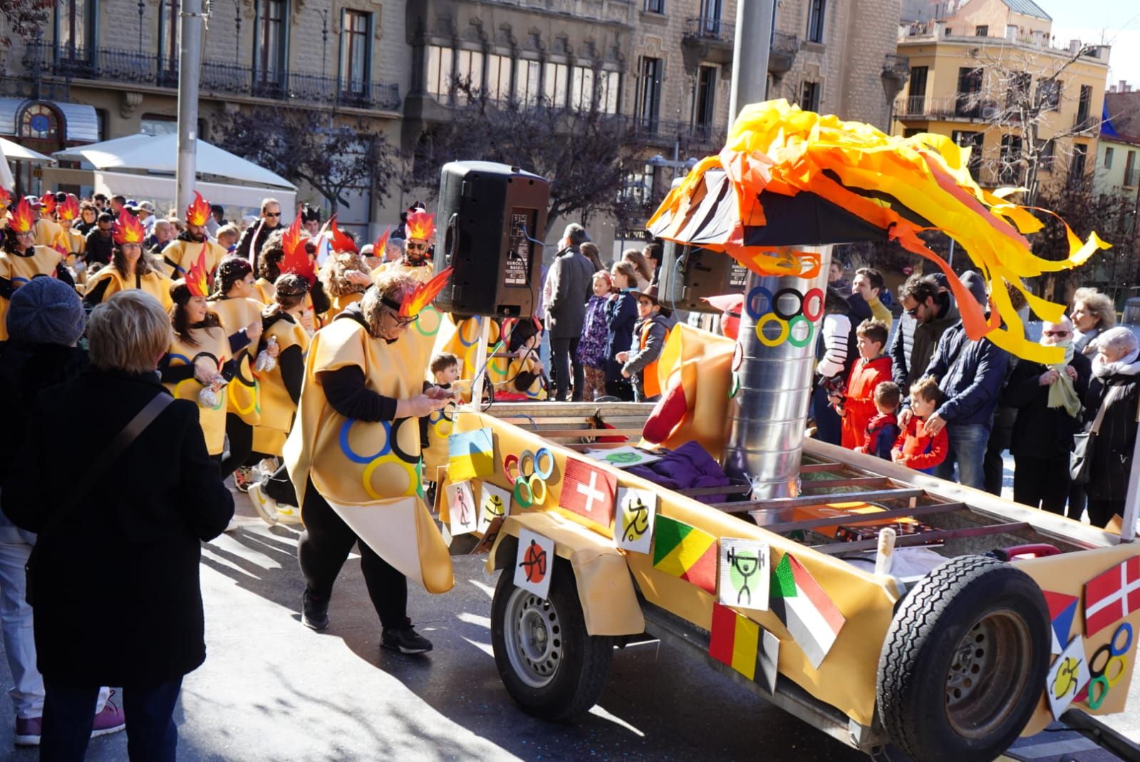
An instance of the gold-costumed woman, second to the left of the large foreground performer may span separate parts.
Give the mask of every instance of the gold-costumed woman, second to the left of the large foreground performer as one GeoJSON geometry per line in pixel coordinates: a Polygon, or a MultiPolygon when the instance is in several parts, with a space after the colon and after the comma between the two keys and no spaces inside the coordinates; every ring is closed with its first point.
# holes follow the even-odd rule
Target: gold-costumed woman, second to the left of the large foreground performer
{"type": "MultiPolygon", "coordinates": [[[[236,374],[229,384],[226,413],[226,436],[229,437],[229,456],[221,463],[225,479],[239,468],[253,452],[253,427],[261,422],[261,400],[258,380],[253,373],[258,341],[261,339],[261,310],[266,308],[253,293],[253,268],[241,257],[227,257],[214,273],[214,291],[210,294],[210,309],[218,315],[221,326],[229,334],[229,349],[234,356],[236,374]]],[[[269,348],[276,356],[276,347],[269,348]]],[[[249,475],[235,476],[235,484],[244,488],[249,475]]]]}

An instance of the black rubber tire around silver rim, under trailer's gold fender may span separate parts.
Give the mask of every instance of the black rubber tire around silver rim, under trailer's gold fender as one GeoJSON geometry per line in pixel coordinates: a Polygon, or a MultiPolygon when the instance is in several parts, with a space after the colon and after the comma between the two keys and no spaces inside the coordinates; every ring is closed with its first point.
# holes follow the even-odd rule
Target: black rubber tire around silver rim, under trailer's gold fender
{"type": "Polygon", "coordinates": [[[522,711],[544,720],[572,720],[597,703],[610,675],[613,660],[613,638],[586,633],[586,621],[578,601],[578,585],[569,561],[556,559],[552,569],[547,606],[557,617],[561,659],[543,687],[527,684],[515,672],[507,655],[507,607],[515,591],[513,565],[499,574],[491,601],[491,646],[495,666],[503,684],[522,711]]]}

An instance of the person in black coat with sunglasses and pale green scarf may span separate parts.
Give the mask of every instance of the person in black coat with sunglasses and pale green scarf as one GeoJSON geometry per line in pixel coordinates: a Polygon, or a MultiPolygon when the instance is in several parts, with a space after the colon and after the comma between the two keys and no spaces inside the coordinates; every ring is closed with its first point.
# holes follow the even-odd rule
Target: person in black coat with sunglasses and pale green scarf
{"type": "Polygon", "coordinates": [[[1056,366],[1023,359],[1013,368],[1002,396],[1004,404],[1017,408],[1010,437],[1015,463],[1013,500],[1058,514],[1065,512],[1073,435],[1080,427],[1082,400],[1089,392],[1092,376],[1089,358],[1068,349],[1072,341],[1069,318],[1043,323],[1041,343],[1065,347],[1066,355],[1070,355],[1065,378],[1056,366]],[[1053,400],[1060,404],[1054,405],[1053,400]]]}

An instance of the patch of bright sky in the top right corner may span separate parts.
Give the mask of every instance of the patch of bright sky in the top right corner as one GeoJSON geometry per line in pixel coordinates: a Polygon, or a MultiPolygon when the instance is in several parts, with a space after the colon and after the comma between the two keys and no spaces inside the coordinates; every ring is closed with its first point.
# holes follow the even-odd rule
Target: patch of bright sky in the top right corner
{"type": "Polygon", "coordinates": [[[1140,2],[1135,0],[1036,0],[1053,17],[1059,44],[1070,39],[1113,46],[1109,83],[1127,80],[1140,89],[1140,2]]]}

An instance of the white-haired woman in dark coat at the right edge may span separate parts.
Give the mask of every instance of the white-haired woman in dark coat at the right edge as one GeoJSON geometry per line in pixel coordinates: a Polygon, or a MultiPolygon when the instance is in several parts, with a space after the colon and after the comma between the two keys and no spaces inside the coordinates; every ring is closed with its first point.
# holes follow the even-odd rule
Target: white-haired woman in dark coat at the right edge
{"type": "Polygon", "coordinates": [[[1124,497],[1132,473],[1132,453],[1140,421],[1140,350],[1135,335],[1124,327],[1109,329],[1097,339],[1092,383],[1084,398],[1085,427],[1091,428],[1104,406],[1100,432],[1092,445],[1085,485],[1089,521],[1107,525],[1124,514],[1124,497]]]}

